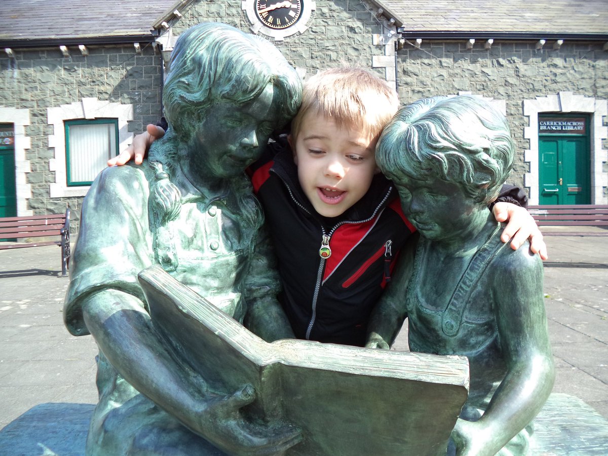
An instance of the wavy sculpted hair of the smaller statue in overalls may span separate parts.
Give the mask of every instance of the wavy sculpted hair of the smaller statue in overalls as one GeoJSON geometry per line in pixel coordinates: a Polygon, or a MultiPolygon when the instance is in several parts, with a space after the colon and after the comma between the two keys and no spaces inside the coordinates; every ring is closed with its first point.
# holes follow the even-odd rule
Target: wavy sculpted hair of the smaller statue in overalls
{"type": "Polygon", "coordinates": [[[376,162],[391,179],[435,174],[489,204],[511,172],[514,153],[505,116],[480,97],[459,95],[401,109],[382,133],[376,162]]]}

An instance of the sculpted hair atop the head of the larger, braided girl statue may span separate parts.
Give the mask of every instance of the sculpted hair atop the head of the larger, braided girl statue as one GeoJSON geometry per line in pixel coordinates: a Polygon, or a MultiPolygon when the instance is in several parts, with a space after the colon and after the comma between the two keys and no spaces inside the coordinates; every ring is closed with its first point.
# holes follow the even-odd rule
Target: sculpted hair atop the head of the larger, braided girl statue
{"type": "MultiPolygon", "coordinates": [[[[179,135],[189,134],[218,100],[241,105],[268,86],[275,88],[282,119],[297,111],[302,83],[278,49],[268,41],[218,22],[206,22],[182,33],[176,42],[165,80],[163,103],[167,121],[179,135]]],[[[279,128],[282,125],[275,125],[279,128]]]]}

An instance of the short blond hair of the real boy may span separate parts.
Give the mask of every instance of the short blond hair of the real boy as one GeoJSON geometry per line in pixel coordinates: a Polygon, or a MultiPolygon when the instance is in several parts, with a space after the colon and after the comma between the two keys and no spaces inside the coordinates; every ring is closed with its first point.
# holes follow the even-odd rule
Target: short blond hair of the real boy
{"type": "Polygon", "coordinates": [[[305,81],[291,134],[297,138],[302,119],[311,113],[378,137],[398,108],[397,92],[378,76],[356,67],[328,69],[305,81]]]}

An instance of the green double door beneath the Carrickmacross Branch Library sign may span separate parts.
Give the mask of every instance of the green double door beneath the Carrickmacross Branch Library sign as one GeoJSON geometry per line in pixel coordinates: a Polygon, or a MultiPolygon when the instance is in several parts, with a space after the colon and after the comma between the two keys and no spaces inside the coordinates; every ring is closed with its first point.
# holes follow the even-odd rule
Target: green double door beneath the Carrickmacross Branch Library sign
{"type": "Polygon", "coordinates": [[[591,203],[591,162],[586,134],[541,134],[539,155],[539,204],[591,203]]]}

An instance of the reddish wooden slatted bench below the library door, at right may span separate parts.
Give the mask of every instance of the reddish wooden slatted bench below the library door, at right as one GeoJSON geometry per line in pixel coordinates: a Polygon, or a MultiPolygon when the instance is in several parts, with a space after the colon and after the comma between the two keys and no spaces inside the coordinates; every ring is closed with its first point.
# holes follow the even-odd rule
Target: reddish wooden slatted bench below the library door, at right
{"type": "Polygon", "coordinates": [[[584,230],[584,227],[608,227],[608,204],[563,204],[528,206],[538,226],[581,227],[576,232],[544,231],[545,236],[608,236],[605,231],[584,230]]]}

